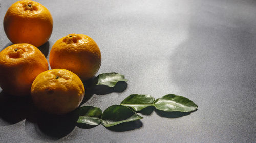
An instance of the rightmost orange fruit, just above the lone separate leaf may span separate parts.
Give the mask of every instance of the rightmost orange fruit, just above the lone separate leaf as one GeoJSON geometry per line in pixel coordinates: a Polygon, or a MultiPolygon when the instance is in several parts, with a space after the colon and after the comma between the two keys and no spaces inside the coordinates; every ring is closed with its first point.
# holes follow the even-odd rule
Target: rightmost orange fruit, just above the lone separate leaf
{"type": "Polygon", "coordinates": [[[87,80],[100,68],[100,49],[87,35],[69,34],[52,46],[49,62],[52,69],[67,69],[87,80]]]}

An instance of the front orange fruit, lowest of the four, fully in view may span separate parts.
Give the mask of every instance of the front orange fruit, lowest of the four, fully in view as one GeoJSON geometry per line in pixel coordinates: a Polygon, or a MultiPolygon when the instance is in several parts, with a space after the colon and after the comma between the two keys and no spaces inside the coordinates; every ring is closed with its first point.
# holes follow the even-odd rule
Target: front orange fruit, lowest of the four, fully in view
{"type": "Polygon", "coordinates": [[[31,96],[40,110],[60,115],[80,105],[84,97],[84,86],[73,72],[53,69],[36,77],[31,87],[31,96]]]}

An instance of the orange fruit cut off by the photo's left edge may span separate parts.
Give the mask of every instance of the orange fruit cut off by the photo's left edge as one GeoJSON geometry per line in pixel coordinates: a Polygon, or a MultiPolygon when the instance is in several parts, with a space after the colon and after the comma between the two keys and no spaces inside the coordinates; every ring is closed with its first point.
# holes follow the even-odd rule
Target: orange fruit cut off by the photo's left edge
{"type": "Polygon", "coordinates": [[[29,95],[36,76],[48,70],[39,49],[30,44],[14,44],[0,52],[0,87],[17,96],[29,95]]]}

